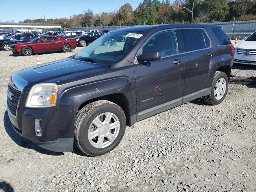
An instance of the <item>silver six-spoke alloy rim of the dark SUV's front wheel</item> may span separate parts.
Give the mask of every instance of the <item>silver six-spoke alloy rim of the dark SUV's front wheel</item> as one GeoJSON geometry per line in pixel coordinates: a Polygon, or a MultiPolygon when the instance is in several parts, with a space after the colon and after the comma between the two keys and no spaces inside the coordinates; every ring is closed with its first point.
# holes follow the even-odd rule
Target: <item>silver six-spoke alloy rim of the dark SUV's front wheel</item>
{"type": "Polygon", "coordinates": [[[118,117],[110,112],[98,115],[88,130],[88,140],[96,148],[105,148],[112,144],[118,136],[120,122],[118,117]]]}

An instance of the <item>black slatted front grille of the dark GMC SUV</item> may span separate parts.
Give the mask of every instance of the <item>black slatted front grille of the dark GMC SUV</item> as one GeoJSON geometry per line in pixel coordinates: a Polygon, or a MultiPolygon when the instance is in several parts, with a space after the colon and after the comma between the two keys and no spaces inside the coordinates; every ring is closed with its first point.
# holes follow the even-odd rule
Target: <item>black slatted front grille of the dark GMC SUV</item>
{"type": "Polygon", "coordinates": [[[10,85],[8,85],[7,91],[10,92],[9,96],[7,97],[7,106],[12,114],[16,115],[21,92],[12,88],[10,85]]]}

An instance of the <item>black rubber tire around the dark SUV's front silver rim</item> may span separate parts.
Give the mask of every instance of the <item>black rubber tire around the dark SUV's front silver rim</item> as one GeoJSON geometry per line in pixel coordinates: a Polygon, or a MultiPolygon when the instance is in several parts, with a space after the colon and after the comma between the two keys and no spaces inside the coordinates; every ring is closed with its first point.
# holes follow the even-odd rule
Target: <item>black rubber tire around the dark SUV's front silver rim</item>
{"type": "MultiPolygon", "coordinates": [[[[110,121],[112,120],[114,119],[111,118],[110,121]]],[[[100,121],[102,123],[104,122],[103,119],[102,120],[100,119],[100,121]]],[[[89,156],[100,156],[116,148],[116,146],[121,142],[124,136],[125,129],[126,129],[126,116],[123,110],[113,102],[110,102],[107,100],[99,100],[84,106],[78,112],[75,120],[75,129],[74,129],[75,143],[76,143],[76,146],[78,146],[78,148],[85,154],[89,156]],[[94,121],[95,118],[97,118],[98,116],[104,113],[113,113],[118,118],[120,126],[118,130],[118,134],[116,135],[113,142],[110,142],[108,141],[108,139],[104,138],[103,144],[104,142],[108,142],[109,145],[103,148],[97,148],[96,146],[93,146],[93,144],[96,144],[96,142],[95,143],[92,143],[92,142],[94,142],[94,140],[97,141],[99,139],[99,136],[95,136],[95,138],[92,138],[89,140],[88,131],[89,131],[89,128],[91,131],[91,129],[94,127],[92,121],[94,121]]],[[[98,128],[96,128],[96,130],[98,130],[98,128]]],[[[115,132],[115,129],[113,130],[115,132]]],[[[95,129],[93,131],[95,131],[95,129]]],[[[110,130],[110,132],[111,131],[112,130],[110,130]]]]}

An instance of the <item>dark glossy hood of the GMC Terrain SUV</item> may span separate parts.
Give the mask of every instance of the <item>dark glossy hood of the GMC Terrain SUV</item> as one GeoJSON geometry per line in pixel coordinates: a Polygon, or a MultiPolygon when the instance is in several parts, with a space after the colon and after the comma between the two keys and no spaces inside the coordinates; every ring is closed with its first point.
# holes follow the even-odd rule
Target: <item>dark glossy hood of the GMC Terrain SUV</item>
{"type": "Polygon", "coordinates": [[[66,58],[64,60],[26,68],[16,72],[16,74],[28,82],[24,90],[24,92],[28,92],[34,84],[45,82],[61,84],[61,82],[69,79],[80,80],[81,78],[86,78],[86,76],[107,69],[109,69],[108,64],[96,64],[66,58]]]}

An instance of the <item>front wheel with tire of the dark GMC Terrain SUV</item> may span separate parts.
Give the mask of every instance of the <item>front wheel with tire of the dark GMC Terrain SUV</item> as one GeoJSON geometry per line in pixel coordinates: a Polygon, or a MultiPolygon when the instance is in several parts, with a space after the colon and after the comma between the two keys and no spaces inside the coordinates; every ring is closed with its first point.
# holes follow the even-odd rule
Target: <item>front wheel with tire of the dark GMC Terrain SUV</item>
{"type": "Polygon", "coordinates": [[[126,128],[123,110],[113,102],[100,100],[82,108],[75,120],[75,143],[89,156],[110,152],[121,142],[126,128]]]}

